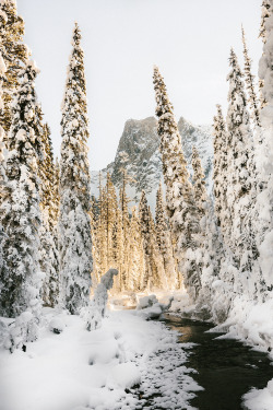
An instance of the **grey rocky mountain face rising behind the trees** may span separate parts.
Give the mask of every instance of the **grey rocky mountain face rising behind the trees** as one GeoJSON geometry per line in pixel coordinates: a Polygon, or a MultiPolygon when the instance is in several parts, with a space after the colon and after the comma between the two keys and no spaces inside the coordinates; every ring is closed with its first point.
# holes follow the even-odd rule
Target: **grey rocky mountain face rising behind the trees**
{"type": "MultiPolygon", "coordinates": [[[[193,126],[183,118],[178,121],[183,152],[188,164],[191,162],[192,147],[195,145],[205,171],[209,190],[212,187],[213,140],[211,127],[193,126]]],[[[132,178],[128,187],[128,195],[132,199],[131,206],[139,202],[142,189],[146,191],[151,208],[155,207],[155,192],[159,180],[163,180],[162,160],[159,153],[159,138],[157,136],[157,120],[154,117],[136,120],[129,119],[124,125],[115,161],[102,171],[103,181],[106,173],[112,176],[118,189],[121,184],[121,169],[126,168],[132,178]]],[[[189,165],[191,172],[191,166],[189,165]]],[[[97,197],[98,172],[92,172],[92,194],[97,197]]]]}

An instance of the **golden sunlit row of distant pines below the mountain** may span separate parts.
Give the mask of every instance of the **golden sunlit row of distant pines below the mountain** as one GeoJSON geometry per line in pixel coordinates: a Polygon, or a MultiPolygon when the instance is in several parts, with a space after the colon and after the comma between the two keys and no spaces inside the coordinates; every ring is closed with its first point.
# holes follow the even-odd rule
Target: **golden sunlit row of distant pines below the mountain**
{"type": "Polygon", "coordinates": [[[92,207],[94,281],[98,282],[106,270],[114,267],[119,271],[114,284],[116,293],[179,289],[181,278],[174,256],[162,186],[156,195],[154,221],[144,190],[139,207],[130,212],[129,183],[122,169],[117,197],[110,174],[107,173],[104,187],[100,178],[99,197],[92,207]]]}

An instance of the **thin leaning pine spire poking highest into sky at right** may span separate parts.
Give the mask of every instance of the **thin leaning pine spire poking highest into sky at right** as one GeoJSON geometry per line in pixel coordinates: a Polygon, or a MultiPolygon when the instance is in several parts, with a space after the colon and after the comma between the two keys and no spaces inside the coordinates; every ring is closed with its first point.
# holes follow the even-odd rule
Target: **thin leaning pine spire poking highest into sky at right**
{"type": "Polygon", "coordinates": [[[244,47],[244,59],[245,59],[245,79],[248,91],[248,103],[251,110],[251,117],[256,126],[260,127],[260,107],[257,99],[256,86],[254,86],[254,75],[251,72],[251,59],[248,54],[247,42],[245,30],[241,26],[241,39],[244,47]]]}

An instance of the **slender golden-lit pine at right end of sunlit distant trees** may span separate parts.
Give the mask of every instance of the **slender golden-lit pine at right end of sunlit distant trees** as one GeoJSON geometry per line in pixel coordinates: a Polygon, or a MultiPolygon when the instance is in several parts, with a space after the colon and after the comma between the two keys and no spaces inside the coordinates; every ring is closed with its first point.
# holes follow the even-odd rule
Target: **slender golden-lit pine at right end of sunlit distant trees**
{"type": "Polygon", "coordinates": [[[155,232],[159,251],[164,260],[164,269],[166,273],[168,289],[176,289],[178,286],[178,271],[174,255],[169,224],[165,212],[165,202],[163,198],[162,184],[159,184],[159,187],[156,192],[155,232]]]}

